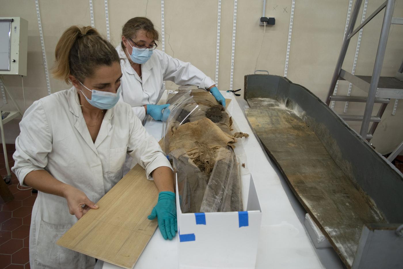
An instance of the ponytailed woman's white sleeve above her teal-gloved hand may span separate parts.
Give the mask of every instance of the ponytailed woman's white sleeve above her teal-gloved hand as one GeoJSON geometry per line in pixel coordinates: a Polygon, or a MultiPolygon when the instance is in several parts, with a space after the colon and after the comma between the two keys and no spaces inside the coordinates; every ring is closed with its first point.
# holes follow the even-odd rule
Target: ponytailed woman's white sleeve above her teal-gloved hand
{"type": "Polygon", "coordinates": [[[129,112],[130,136],[127,146],[129,155],[145,169],[147,179],[160,166],[172,169],[168,159],[156,139],[147,133],[141,121],[129,112]]]}

